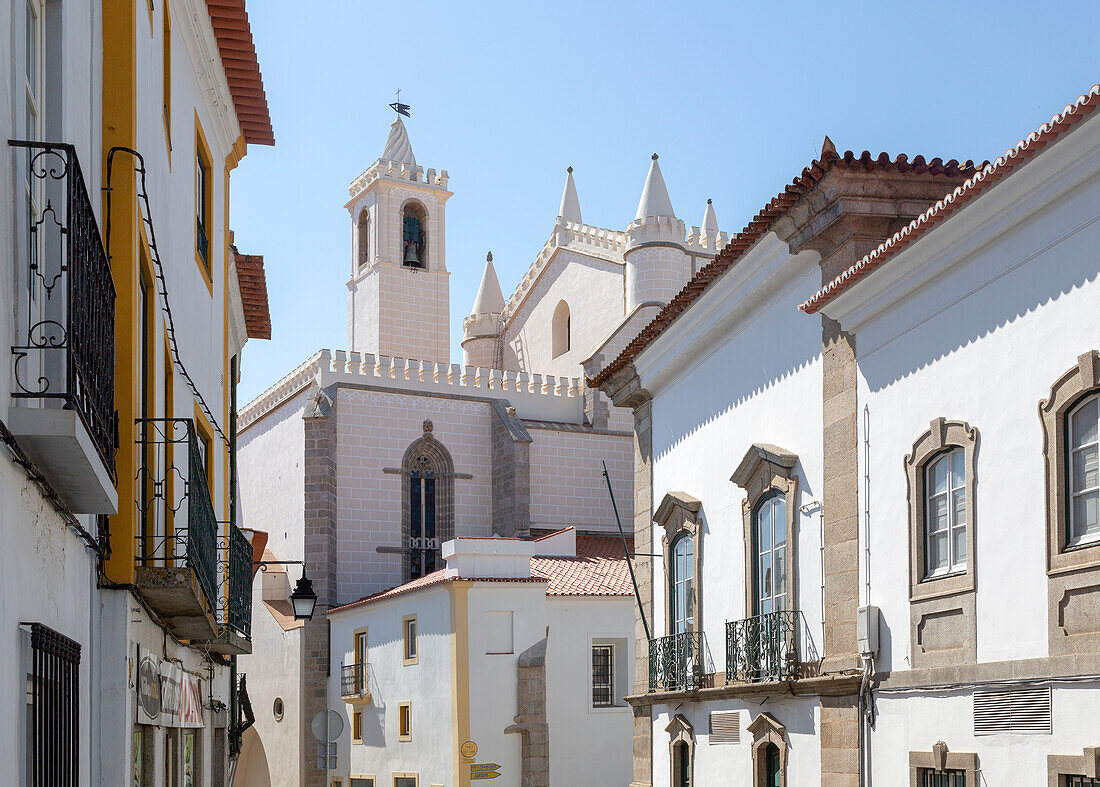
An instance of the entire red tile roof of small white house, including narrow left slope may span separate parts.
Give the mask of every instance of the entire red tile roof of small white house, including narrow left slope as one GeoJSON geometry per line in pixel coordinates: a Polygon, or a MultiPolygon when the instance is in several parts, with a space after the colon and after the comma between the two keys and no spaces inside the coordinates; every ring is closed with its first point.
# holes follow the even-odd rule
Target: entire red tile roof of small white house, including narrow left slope
{"type": "MultiPolygon", "coordinates": [[[[512,539],[508,539],[512,540],[512,539]]],[[[519,540],[519,539],[516,539],[519,540]]],[[[539,540],[539,539],[535,539],[539,540]]],[[[627,548],[634,542],[627,538],[627,548]]],[[[364,595],[326,614],[343,612],[375,601],[386,601],[444,582],[546,582],[547,595],[632,595],[630,569],[623,556],[623,542],[607,536],[578,536],[576,557],[534,557],[530,577],[448,577],[446,569],[414,579],[405,584],[364,595]]]]}

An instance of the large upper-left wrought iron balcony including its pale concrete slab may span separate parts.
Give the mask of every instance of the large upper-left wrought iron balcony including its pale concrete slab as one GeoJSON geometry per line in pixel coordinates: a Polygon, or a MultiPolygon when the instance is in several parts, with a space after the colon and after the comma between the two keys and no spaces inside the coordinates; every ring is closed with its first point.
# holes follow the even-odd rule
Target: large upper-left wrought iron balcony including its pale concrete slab
{"type": "Polygon", "coordinates": [[[114,284],[73,145],[12,140],[10,428],[75,513],[116,513],[114,284]]]}

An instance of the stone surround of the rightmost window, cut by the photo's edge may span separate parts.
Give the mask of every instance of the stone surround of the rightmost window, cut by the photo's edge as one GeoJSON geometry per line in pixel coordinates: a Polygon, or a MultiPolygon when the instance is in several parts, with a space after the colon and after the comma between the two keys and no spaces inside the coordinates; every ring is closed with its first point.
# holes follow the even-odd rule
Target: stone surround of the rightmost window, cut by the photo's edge
{"type": "Polygon", "coordinates": [[[1090,350],[1078,357],[1077,365],[1058,378],[1050,386],[1050,395],[1038,403],[1043,425],[1043,464],[1046,471],[1048,575],[1100,567],[1100,543],[1066,547],[1066,415],[1082,398],[1098,392],[1100,352],[1090,350]]]}

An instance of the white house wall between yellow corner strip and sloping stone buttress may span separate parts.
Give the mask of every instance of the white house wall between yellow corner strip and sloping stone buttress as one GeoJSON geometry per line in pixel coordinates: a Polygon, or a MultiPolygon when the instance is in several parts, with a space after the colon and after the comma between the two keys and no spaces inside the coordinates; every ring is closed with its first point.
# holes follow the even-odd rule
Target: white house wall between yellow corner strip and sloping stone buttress
{"type": "MultiPolygon", "coordinates": [[[[501,783],[518,785],[521,736],[506,735],[504,729],[519,712],[519,656],[547,636],[546,583],[475,582],[469,591],[469,615],[470,737],[477,744],[479,763],[498,764],[501,783]],[[486,654],[485,613],[506,610],[514,612],[514,653],[486,654]]],[[[552,730],[550,735],[553,737],[552,730]]]]}

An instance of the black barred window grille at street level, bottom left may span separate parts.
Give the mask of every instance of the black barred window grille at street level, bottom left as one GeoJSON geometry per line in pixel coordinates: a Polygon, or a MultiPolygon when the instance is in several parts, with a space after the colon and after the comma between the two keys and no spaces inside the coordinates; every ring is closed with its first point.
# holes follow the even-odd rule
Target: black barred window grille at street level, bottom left
{"type": "Polygon", "coordinates": [[[31,657],[30,784],[74,787],[80,783],[80,645],[34,623],[31,657]]]}

